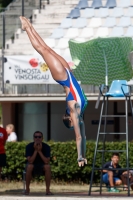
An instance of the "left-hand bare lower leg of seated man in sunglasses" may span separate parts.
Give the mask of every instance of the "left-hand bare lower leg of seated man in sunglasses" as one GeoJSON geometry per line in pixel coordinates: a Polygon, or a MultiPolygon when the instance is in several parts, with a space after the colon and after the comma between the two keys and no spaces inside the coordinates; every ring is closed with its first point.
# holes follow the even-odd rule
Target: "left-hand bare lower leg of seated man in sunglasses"
{"type": "Polygon", "coordinates": [[[34,165],[33,164],[27,164],[26,166],[26,194],[29,194],[30,192],[30,181],[32,179],[32,171],[33,171],[34,165]]]}

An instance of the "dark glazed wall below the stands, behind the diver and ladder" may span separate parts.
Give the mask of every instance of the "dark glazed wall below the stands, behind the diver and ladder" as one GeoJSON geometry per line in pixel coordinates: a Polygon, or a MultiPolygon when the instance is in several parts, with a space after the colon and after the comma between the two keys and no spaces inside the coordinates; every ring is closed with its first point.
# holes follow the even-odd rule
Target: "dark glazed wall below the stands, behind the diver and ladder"
{"type": "MultiPolygon", "coordinates": [[[[86,137],[87,140],[96,141],[98,124],[93,124],[93,121],[99,121],[100,111],[101,111],[101,102],[98,109],[95,109],[95,101],[88,102],[88,106],[84,113],[84,121],[86,128],[86,137]]],[[[18,103],[17,112],[14,111],[15,104],[3,104],[3,116],[4,124],[13,123],[15,127],[18,127],[17,134],[19,141],[21,140],[32,140],[33,133],[36,130],[42,131],[44,134],[44,139],[47,141],[47,134],[49,128],[47,127],[48,119],[48,109],[47,102],[31,102],[31,103],[18,103]],[[15,113],[15,114],[12,114],[15,113]],[[14,117],[14,115],[16,115],[14,117]],[[6,117],[7,116],[7,117],[6,117]],[[9,120],[10,118],[10,120],[9,120]],[[15,119],[17,119],[15,121],[15,119]],[[5,123],[6,122],[6,123],[5,123]]],[[[58,101],[51,102],[51,116],[50,116],[50,135],[51,140],[54,141],[69,141],[75,140],[75,133],[73,130],[67,129],[63,122],[62,116],[65,113],[66,102],[58,101]]],[[[113,114],[114,112],[114,102],[109,101],[108,113],[113,114]]],[[[117,112],[118,114],[123,114],[125,112],[124,101],[117,101],[117,112]]],[[[130,107],[129,107],[130,112],[130,107]]],[[[113,120],[114,118],[108,118],[108,120],[113,120]]],[[[128,128],[129,128],[129,141],[133,139],[133,122],[132,117],[128,119],[128,128]]],[[[114,124],[107,125],[107,132],[114,132],[114,124]]],[[[119,132],[125,132],[125,118],[119,119],[119,132]]],[[[101,125],[101,132],[103,132],[103,125],[101,125]]],[[[107,141],[115,141],[115,135],[107,135],[107,141]]],[[[101,141],[103,137],[99,138],[101,141]]],[[[124,135],[120,135],[119,141],[125,140],[124,135]]]]}

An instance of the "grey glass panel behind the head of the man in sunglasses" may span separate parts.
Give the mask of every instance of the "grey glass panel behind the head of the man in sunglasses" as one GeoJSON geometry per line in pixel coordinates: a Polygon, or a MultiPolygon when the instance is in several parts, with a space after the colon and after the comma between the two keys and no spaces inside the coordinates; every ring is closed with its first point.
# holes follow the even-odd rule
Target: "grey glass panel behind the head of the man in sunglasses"
{"type": "Polygon", "coordinates": [[[19,140],[33,140],[35,131],[43,132],[47,140],[47,103],[22,103],[19,104],[18,113],[19,140]]]}

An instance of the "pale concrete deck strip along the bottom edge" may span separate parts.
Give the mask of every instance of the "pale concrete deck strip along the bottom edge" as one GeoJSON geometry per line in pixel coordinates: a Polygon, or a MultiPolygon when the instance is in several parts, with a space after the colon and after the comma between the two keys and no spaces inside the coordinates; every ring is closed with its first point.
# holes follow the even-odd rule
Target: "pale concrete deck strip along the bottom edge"
{"type": "Polygon", "coordinates": [[[133,194],[127,196],[126,193],[103,193],[99,195],[99,193],[92,193],[91,196],[88,196],[88,193],[82,192],[61,192],[55,193],[52,196],[46,196],[43,193],[31,193],[28,196],[22,195],[21,193],[0,193],[0,200],[107,200],[114,199],[114,200],[128,200],[133,198],[133,194]]]}

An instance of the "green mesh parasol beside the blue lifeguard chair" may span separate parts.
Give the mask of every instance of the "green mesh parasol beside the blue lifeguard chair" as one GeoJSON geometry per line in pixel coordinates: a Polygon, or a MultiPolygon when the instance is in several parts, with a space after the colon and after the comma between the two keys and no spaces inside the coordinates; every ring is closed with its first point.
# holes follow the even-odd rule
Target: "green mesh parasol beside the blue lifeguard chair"
{"type": "Polygon", "coordinates": [[[83,43],[70,40],[69,48],[76,66],[74,75],[82,84],[105,83],[104,54],[107,61],[109,85],[113,80],[132,78],[129,53],[133,50],[133,42],[130,37],[97,38],[83,43]]]}

